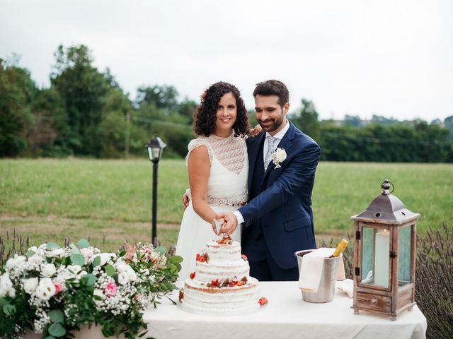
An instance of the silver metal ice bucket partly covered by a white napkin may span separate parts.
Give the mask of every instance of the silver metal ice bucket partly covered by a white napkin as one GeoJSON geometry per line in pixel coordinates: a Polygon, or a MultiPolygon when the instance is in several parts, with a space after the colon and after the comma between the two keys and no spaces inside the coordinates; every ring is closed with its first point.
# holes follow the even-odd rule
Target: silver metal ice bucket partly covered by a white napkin
{"type": "MultiPolygon", "coordinates": [[[[314,249],[306,249],[294,253],[297,257],[299,272],[304,255],[309,254],[311,251],[314,251],[314,249]]],[[[343,256],[343,254],[341,254],[341,256],[343,256]]],[[[335,294],[335,283],[339,262],[340,256],[337,256],[336,258],[324,258],[323,273],[321,275],[318,292],[302,291],[302,299],[306,302],[331,302],[333,300],[333,295],[335,294]]]]}

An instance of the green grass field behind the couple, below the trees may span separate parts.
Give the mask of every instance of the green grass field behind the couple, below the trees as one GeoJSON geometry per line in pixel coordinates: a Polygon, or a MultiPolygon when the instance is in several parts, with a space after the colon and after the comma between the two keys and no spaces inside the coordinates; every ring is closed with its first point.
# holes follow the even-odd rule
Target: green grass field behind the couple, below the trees
{"type": "MultiPolygon", "coordinates": [[[[453,224],[453,165],[321,162],[313,209],[317,239],[352,234],[390,179],[406,208],[420,213],[418,235],[453,224]]],[[[33,244],[91,237],[101,249],[151,240],[152,165],[147,160],[0,160],[0,235],[16,229],[33,244]]],[[[183,160],[159,164],[158,238],[176,244],[188,186],[183,160]]]]}

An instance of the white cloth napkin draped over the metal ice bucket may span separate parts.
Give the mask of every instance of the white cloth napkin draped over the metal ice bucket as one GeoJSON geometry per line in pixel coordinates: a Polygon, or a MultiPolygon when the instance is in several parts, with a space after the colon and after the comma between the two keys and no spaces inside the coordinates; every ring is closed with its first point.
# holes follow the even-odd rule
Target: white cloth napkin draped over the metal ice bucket
{"type": "Polygon", "coordinates": [[[299,272],[299,288],[306,292],[318,292],[323,274],[324,258],[333,254],[335,249],[321,247],[305,254],[299,272]]]}

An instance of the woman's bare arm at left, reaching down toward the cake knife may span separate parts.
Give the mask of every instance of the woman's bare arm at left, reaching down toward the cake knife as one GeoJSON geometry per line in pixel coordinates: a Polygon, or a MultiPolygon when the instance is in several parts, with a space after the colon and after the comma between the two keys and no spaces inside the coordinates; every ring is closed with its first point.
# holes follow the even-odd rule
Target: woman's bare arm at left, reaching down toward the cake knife
{"type": "Polygon", "coordinates": [[[212,223],[215,212],[207,203],[207,181],[210,177],[210,156],[206,146],[194,148],[188,159],[190,191],[193,210],[206,222],[212,223]]]}

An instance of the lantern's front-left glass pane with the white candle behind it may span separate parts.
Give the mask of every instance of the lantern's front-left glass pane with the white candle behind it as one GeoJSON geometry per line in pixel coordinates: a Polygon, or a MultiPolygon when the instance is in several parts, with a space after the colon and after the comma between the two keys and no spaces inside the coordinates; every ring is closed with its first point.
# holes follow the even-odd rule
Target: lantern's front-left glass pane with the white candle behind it
{"type": "Polygon", "coordinates": [[[362,283],[389,287],[390,231],[362,228],[362,283]]]}

